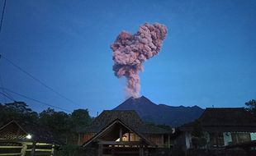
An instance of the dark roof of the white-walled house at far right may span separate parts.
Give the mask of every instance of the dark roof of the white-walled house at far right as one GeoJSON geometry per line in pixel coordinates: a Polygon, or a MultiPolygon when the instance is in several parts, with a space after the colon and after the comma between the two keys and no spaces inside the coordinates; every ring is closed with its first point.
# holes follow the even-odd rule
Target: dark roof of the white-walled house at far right
{"type": "MultiPolygon", "coordinates": [[[[256,118],[244,108],[206,108],[198,118],[204,131],[256,131],[256,118]]],[[[193,122],[183,131],[192,131],[193,122]]]]}

